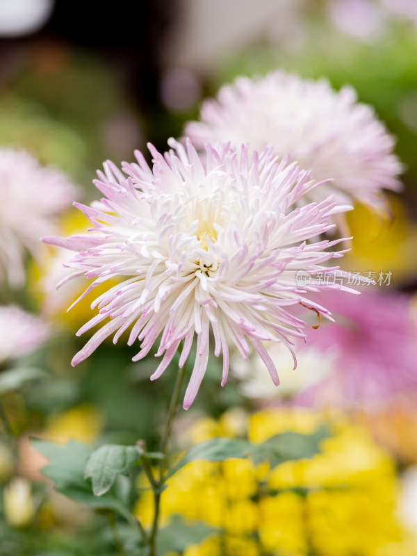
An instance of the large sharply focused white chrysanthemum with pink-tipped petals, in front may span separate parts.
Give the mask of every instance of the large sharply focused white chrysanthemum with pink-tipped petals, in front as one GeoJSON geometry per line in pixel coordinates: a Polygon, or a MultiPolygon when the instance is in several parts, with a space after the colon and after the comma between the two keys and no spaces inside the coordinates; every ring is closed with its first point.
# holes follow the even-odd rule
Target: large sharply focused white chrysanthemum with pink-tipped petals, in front
{"type": "Polygon", "coordinates": [[[104,339],[131,328],[129,345],[138,338],[145,357],[160,336],[156,356],[163,359],[152,375],[160,377],[183,342],[183,367],[197,336],[193,373],[184,407],[190,407],[206,371],[211,332],[214,354],[223,357],[222,384],[229,370],[228,341],[246,359],[250,344],[267,366],[273,382],[277,370],[263,341],[283,342],[291,349],[291,336],[304,336],[304,322],[291,307],[307,308],[329,316],[311,300],[326,288],[345,289],[332,276],[338,267],[322,263],[342,252],[332,251],[336,241],[317,242],[331,229],[329,220],[350,207],[329,198],[293,210],[302,195],[316,186],[309,172],[295,163],[277,163],[272,149],[252,157],[222,144],[206,147],[204,163],[190,142],[186,149],[174,140],[165,156],[149,146],[154,156],[149,167],[142,154],[138,163],[123,165],[126,175],[111,162],[98,172],[95,185],[104,195],[100,204],[75,204],[92,223],[85,234],[70,238],[44,238],[76,252],[67,264],[74,277],[94,278],[85,294],[109,279],[109,286],[92,308],[97,316],[77,334],[102,327],[76,354],[76,365],[104,339]],[[311,240],[307,243],[307,240],[311,240]],[[297,272],[329,280],[297,286],[297,272]]]}

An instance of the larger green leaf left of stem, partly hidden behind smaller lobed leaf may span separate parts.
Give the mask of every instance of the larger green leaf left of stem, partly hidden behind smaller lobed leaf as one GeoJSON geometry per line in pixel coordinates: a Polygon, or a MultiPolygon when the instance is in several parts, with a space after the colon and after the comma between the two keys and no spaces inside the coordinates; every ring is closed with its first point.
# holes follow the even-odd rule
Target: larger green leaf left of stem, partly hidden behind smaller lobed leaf
{"type": "Polygon", "coordinates": [[[40,439],[32,439],[32,443],[38,452],[50,460],[42,473],[54,481],[58,492],[92,508],[112,509],[136,527],[131,512],[115,493],[97,497],[91,491],[90,482],[84,479],[85,463],[91,455],[91,448],[74,440],[66,445],[40,439]]]}

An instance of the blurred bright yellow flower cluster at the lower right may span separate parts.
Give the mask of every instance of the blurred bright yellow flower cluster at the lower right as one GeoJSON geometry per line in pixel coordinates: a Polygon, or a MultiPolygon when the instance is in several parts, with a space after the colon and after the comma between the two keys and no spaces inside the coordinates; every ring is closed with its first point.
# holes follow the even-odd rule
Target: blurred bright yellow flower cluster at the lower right
{"type": "MultiPolygon", "coordinates": [[[[416,555],[395,516],[393,462],[360,427],[309,410],[273,409],[199,420],[190,435],[196,443],[244,428],[250,441],[261,443],[280,432],[311,434],[323,423],[332,436],[312,459],[272,469],[250,459],[193,461],[171,477],[162,495],[163,525],[180,514],[218,530],[183,556],[416,555]]],[[[145,491],[136,514],[149,525],[152,512],[145,491]]]]}

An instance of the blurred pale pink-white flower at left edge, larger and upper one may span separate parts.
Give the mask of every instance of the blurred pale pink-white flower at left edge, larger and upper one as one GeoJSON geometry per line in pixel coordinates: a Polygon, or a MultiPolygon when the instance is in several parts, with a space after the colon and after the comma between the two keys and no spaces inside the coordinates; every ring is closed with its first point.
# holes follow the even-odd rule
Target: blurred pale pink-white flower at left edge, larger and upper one
{"type": "Polygon", "coordinates": [[[24,284],[26,251],[40,252],[39,237],[56,233],[57,213],[68,208],[75,186],[24,151],[0,149],[0,281],[24,284]]]}

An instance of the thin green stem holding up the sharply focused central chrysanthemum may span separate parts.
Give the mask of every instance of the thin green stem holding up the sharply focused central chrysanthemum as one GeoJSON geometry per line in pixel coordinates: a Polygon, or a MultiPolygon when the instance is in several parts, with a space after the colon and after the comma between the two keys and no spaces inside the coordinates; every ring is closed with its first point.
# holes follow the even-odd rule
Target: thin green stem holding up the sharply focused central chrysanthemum
{"type": "Polygon", "coordinates": [[[163,491],[163,484],[165,483],[165,460],[167,455],[168,442],[170,441],[172,425],[174,424],[175,413],[177,412],[179,396],[181,394],[181,388],[182,388],[185,374],[186,374],[186,365],[184,365],[182,369],[178,370],[177,379],[174,384],[174,390],[172,391],[170,408],[168,409],[165,430],[163,432],[162,439],[161,439],[161,447],[159,451],[165,457],[163,457],[163,459],[161,459],[159,463],[158,480],[155,480],[153,475],[152,475],[153,480],[151,480],[152,489],[154,491],[154,520],[152,522],[152,529],[149,535],[149,556],[156,556],[155,544],[156,544],[156,536],[158,534],[159,512],[161,509],[161,493],[163,491]]]}

